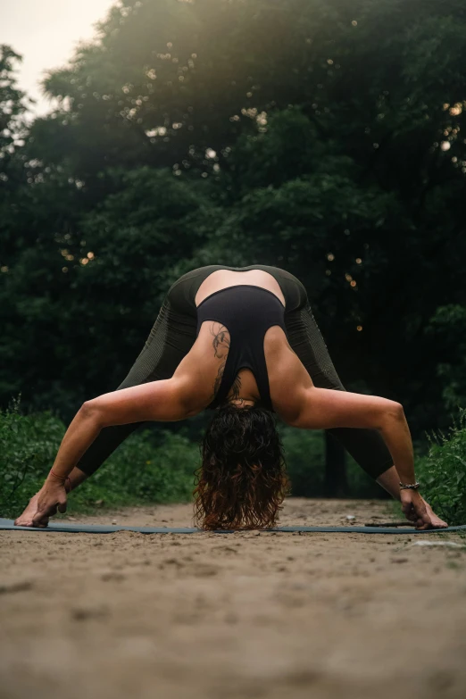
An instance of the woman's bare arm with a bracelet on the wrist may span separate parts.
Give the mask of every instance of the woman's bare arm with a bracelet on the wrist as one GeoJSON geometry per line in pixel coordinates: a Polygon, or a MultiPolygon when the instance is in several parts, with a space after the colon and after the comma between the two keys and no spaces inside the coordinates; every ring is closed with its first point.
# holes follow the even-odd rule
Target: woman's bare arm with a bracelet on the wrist
{"type": "MultiPolygon", "coordinates": [[[[301,429],[378,429],[401,481],[415,483],[412,438],[402,404],[378,395],[306,387],[298,399],[297,417],[290,424],[301,429]]],[[[420,493],[404,489],[400,496],[404,513],[413,509],[422,520],[418,528],[429,528],[431,521],[420,493]]]]}

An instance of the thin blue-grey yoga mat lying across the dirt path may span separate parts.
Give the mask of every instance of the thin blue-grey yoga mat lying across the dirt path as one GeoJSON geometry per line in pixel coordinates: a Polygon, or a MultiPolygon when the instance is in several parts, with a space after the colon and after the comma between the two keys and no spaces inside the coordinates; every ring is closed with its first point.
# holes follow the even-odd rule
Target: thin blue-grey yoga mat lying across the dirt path
{"type": "MultiPolygon", "coordinates": [[[[111,534],[113,531],[138,531],[141,532],[141,534],[205,533],[204,529],[196,529],[191,527],[124,527],[119,524],[68,524],[60,521],[50,522],[46,528],[15,527],[13,520],[2,520],[1,518],[0,529],[10,529],[13,531],[84,532],[86,534],[111,534]]],[[[237,531],[237,529],[219,529],[213,533],[232,534],[234,531],[237,531]]],[[[356,534],[433,534],[438,531],[466,531],[466,524],[462,524],[459,527],[448,527],[446,529],[414,529],[412,527],[275,527],[271,529],[260,529],[260,531],[321,531],[328,533],[351,531],[353,533],[355,532],[356,534]]]]}

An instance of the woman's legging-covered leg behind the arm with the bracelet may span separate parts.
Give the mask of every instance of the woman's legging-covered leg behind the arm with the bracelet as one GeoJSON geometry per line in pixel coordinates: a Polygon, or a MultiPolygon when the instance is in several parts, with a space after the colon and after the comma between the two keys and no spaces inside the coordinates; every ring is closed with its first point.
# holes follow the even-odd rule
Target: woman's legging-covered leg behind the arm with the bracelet
{"type": "MultiPolygon", "coordinates": [[[[313,384],[319,388],[345,391],[307,297],[300,308],[286,314],[286,323],[289,343],[313,384]]],[[[345,446],[354,461],[374,480],[393,467],[391,454],[377,429],[335,428],[327,431],[345,446]]]]}

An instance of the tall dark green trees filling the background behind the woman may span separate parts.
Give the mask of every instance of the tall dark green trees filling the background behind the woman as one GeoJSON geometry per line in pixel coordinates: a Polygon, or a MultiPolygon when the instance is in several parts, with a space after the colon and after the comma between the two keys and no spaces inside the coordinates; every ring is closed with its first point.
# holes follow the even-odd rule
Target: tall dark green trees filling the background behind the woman
{"type": "Polygon", "coordinates": [[[303,280],[346,387],[403,403],[420,442],[448,427],[462,0],[120,0],[29,127],[19,59],[1,47],[0,404],[68,422],[120,384],[179,274],[261,262],[303,280]]]}

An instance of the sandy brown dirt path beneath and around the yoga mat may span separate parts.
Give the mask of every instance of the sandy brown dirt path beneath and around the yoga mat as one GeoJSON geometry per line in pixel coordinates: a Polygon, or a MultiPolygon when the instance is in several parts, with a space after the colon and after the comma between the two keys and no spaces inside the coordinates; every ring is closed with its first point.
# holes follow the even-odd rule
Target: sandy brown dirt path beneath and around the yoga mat
{"type": "MultiPolygon", "coordinates": [[[[280,523],[388,512],[291,498],[280,523]]],[[[191,515],[81,520],[191,526],[191,515]]],[[[0,532],[0,697],[463,699],[465,573],[454,533],[0,532]]]]}

